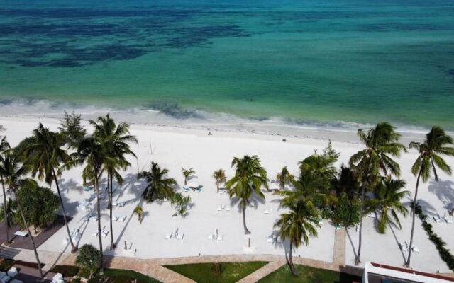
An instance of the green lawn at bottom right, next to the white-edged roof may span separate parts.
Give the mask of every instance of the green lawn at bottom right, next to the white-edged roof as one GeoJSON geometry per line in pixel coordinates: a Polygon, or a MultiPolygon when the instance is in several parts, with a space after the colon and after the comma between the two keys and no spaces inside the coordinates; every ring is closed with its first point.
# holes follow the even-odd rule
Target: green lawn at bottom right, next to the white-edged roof
{"type": "Polygon", "coordinates": [[[360,277],[347,275],[341,272],[331,270],[322,270],[314,267],[307,267],[304,265],[295,265],[298,272],[298,277],[292,275],[287,265],[282,266],[275,272],[272,272],[265,278],[262,278],[260,283],[272,282],[298,282],[298,283],[351,283],[361,282],[360,277]]]}

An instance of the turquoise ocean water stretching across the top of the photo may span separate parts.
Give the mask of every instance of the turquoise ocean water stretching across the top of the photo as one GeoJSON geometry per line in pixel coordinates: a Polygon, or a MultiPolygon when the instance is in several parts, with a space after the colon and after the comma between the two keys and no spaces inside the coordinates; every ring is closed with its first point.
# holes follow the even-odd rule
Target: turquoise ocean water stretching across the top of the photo
{"type": "Polygon", "coordinates": [[[0,102],[454,129],[454,1],[106,2],[2,1],[0,102]]]}

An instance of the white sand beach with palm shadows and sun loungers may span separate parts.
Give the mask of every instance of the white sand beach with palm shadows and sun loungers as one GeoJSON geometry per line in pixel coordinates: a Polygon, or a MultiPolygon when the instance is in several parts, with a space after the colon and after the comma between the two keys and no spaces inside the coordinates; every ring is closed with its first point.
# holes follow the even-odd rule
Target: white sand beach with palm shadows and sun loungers
{"type": "MultiPolygon", "coordinates": [[[[120,118],[115,117],[116,120],[120,118]]],[[[1,117],[0,125],[6,128],[1,133],[6,135],[11,146],[16,146],[21,139],[31,134],[38,122],[43,122],[45,127],[56,130],[59,121],[51,118],[33,117],[1,117]]],[[[279,216],[278,198],[270,192],[265,192],[265,202],[258,202],[255,207],[246,211],[246,221],[250,234],[250,243],[253,248],[245,248],[248,245],[248,237],[244,235],[243,219],[236,204],[232,204],[226,194],[216,193],[216,185],[211,177],[213,171],[218,168],[226,169],[227,177],[231,177],[233,170],[231,160],[233,156],[256,154],[260,157],[262,166],[267,169],[268,177],[274,179],[276,173],[283,167],[288,166],[291,173],[297,173],[297,162],[309,156],[314,150],[323,149],[328,141],[323,139],[287,138],[275,135],[262,135],[241,132],[214,132],[208,136],[206,130],[182,129],[175,127],[156,127],[148,125],[132,125],[131,134],[138,137],[139,144],[133,145],[132,149],[138,156],[130,158],[131,168],[123,173],[125,182],[123,185],[114,184],[114,202],[125,202],[124,207],[115,207],[114,216],[126,216],[126,220],[114,221],[114,240],[118,243],[115,251],[108,250],[110,235],[104,239],[106,254],[131,256],[137,258],[174,258],[194,255],[230,255],[242,253],[275,254],[284,255],[282,245],[267,243],[267,237],[272,233],[272,225],[279,216]],[[137,180],[139,171],[148,170],[150,162],[155,161],[162,168],[170,170],[170,177],[175,178],[179,185],[183,184],[181,168],[192,167],[196,171],[193,182],[203,185],[201,192],[183,192],[190,195],[194,206],[189,210],[186,218],[172,217],[175,209],[169,202],[145,204],[140,198],[143,191],[143,181],[137,180]],[[138,217],[133,214],[136,205],[142,204],[146,212],[143,223],[139,224],[138,217]],[[221,209],[219,206],[231,207],[231,210],[221,209]],[[267,210],[268,214],[265,214],[267,210]],[[172,238],[166,240],[168,233],[175,233],[178,229],[180,235],[184,234],[182,241],[172,238]],[[211,241],[207,237],[218,229],[223,235],[222,241],[211,241]],[[129,250],[123,250],[124,241],[129,250]]],[[[334,133],[336,134],[336,133],[334,133]]],[[[421,139],[423,134],[420,135],[421,139]]],[[[333,148],[341,153],[337,166],[348,163],[348,158],[356,151],[362,149],[359,143],[333,141],[333,148]]],[[[399,159],[402,168],[402,178],[406,180],[406,190],[414,191],[416,178],[411,174],[410,167],[416,158],[416,151],[410,150],[399,159]]],[[[447,158],[448,163],[454,166],[454,159],[447,158]]],[[[89,209],[79,209],[79,204],[88,200],[93,192],[84,192],[82,189],[81,169],[74,168],[62,174],[61,188],[65,198],[67,212],[74,217],[70,221],[70,229],[79,229],[82,238],[79,246],[83,243],[92,243],[98,246],[98,238],[92,237],[97,231],[96,222],[87,221],[89,209]]],[[[440,181],[436,183],[429,180],[422,183],[419,190],[419,200],[426,213],[440,214],[454,222],[452,216],[448,216],[445,207],[454,202],[453,178],[439,173],[440,181]]],[[[105,186],[106,180],[103,180],[105,186]]],[[[270,184],[270,188],[275,186],[270,184]]],[[[55,189],[55,187],[52,187],[55,189]]],[[[408,199],[408,202],[410,199],[408,199]]],[[[102,204],[101,224],[109,231],[109,210],[106,209],[106,199],[102,204]]],[[[94,202],[92,209],[94,209],[94,202]]],[[[381,235],[375,231],[374,220],[365,217],[363,233],[362,262],[379,262],[387,265],[402,266],[403,255],[398,244],[409,242],[411,216],[402,219],[402,231],[394,228],[387,234],[381,235]]],[[[450,241],[454,233],[454,224],[436,224],[433,221],[434,230],[447,243],[450,250],[454,250],[454,243],[450,241]]],[[[311,258],[326,262],[333,261],[335,228],[324,221],[319,229],[319,236],[311,238],[309,246],[301,246],[294,256],[311,258]]],[[[348,231],[355,247],[358,245],[358,233],[355,229],[348,231]]],[[[57,231],[48,241],[43,243],[38,250],[69,253],[69,248],[62,242],[67,236],[64,228],[57,231]]],[[[412,267],[426,272],[449,272],[450,270],[441,260],[438,251],[426,232],[423,231],[419,219],[416,221],[414,245],[418,246],[420,253],[412,256],[412,267]]],[[[352,245],[347,238],[345,243],[345,264],[353,265],[354,253],[352,245]]]]}

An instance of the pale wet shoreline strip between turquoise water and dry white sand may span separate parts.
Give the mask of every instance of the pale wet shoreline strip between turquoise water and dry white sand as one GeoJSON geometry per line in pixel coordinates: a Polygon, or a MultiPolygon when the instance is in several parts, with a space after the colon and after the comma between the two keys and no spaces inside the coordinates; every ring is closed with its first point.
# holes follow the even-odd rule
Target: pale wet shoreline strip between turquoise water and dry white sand
{"type": "MultiPolygon", "coordinates": [[[[190,110],[195,114],[188,117],[174,117],[159,110],[145,110],[130,108],[126,110],[112,108],[98,108],[94,105],[77,107],[75,105],[51,105],[47,101],[34,103],[4,103],[0,105],[0,118],[4,119],[53,119],[60,120],[64,112],[76,112],[82,115],[82,120],[96,120],[100,115],[110,112],[118,121],[128,122],[131,125],[151,127],[193,129],[208,132],[246,133],[258,137],[282,137],[282,139],[316,139],[331,140],[358,144],[358,129],[367,129],[371,124],[355,122],[306,122],[297,123],[284,120],[280,117],[270,117],[264,120],[247,119],[226,113],[211,113],[200,110],[190,110]]],[[[189,111],[189,110],[182,110],[189,111]]],[[[381,122],[381,121],[377,121],[381,122]]],[[[396,125],[397,131],[402,134],[402,142],[406,145],[411,141],[422,141],[428,129],[416,127],[402,127],[396,125]]],[[[454,135],[454,132],[448,131],[454,135]]]]}

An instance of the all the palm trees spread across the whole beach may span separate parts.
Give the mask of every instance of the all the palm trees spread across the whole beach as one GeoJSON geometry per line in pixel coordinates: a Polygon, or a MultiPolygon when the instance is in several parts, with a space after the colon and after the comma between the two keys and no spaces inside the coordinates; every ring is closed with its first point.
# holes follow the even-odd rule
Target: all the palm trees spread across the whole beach
{"type": "MultiPolygon", "coordinates": [[[[62,207],[65,228],[71,250],[74,253],[77,246],[72,241],[65,205],[60,191],[59,178],[62,171],[73,168],[74,166],[84,166],[82,178],[84,185],[91,184],[96,191],[96,212],[99,237],[99,271],[103,272],[103,248],[101,238],[101,184],[100,180],[105,175],[110,211],[110,248],[115,248],[114,231],[112,227],[112,195],[114,192],[114,180],[116,183],[123,183],[121,171],[131,166],[127,156],[135,157],[131,151],[130,144],[137,143],[137,139],[129,132],[129,125],[116,122],[106,115],[99,117],[96,121],[89,121],[93,127],[93,133],[87,136],[83,133],[52,132],[39,124],[33,130],[31,137],[21,141],[18,146],[11,149],[6,138],[0,141],[0,181],[4,192],[4,221],[8,227],[8,215],[6,209],[6,197],[10,192],[18,200],[17,191],[21,189],[24,182],[29,178],[38,178],[49,185],[55,183],[57,195],[62,207]],[[72,137],[77,137],[74,140],[72,137]],[[8,189],[8,190],[6,190],[8,189]]],[[[74,126],[74,125],[72,125],[74,126]]],[[[77,128],[77,127],[76,127],[77,128]]],[[[62,129],[62,128],[60,128],[62,129]]],[[[82,129],[79,129],[82,131],[82,129]]],[[[377,221],[377,230],[380,233],[386,231],[389,224],[400,227],[397,214],[408,213],[402,201],[409,195],[408,191],[403,190],[405,183],[398,179],[401,173],[399,164],[393,158],[399,157],[402,152],[406,152],[406,147],[399,143],[399,134],[392,125],[381,122],[372,129],[358,131],[360,140],[365,145],[365,149],[358,151],[350,157],[349,166],[342,166],[338,171],[334,163],[338,161],[339,154],[331,148],[331,143],[322,153],[314,152],[311,156],[299,162],[299,172],[297,176],[289,173],[287,167],[282,168],[277,174],[277,184],[280,189],[275,194],[282,197],[280,206],[284,208],[284,213],[275,223],[275,228],[283,240],[289,243],[289,257],[287,263],[290,270],[295,275],[297,271],[292,262],[292,249],[301,244],[308,244],[311,236],[317,235],[316,227],[326,209],[336,206],[341,197],[358,200],[359,203],[359,238],[358,251],[355,255],[355,264],[360,262],[362,245],[362,217],[370,211],[380,213],[377,221]],[[284,190],[286,186],[292,187],[284,190]],[[372,192],[375,197],[366,197],[366,192],[372,192]]],[[[411,168],[411,172],[416,176],[416,190],[412,204],[412,226],[410,245],[414,236],[414,210],[417,202],[419,182],[422,178],[426,182],[431,174],[438,180],[438,168],[450,174],[450,166],[443,160],[442,156],[454,156],[454,148],[450,147],[453,139],[449,137],[440,127],[433,127],[431,132],[426,135],[423,143],[412,142],[409,147],[417,149],[419,156],[411,168]]],[[[246,209],[255,203],[255,199],[263,200],[265,195],[262,187],[268,189],[267,171],[260,164],[258,156],[243,156],[243,158],[233,158],[231,163],[235,173],[229,180],[226,172],[219,169],[213,173],[217,190],[222,183],[226,184],[229,196],[238,202],[243,214],[243,227],[246,234],[251,233],[246,225],[246,209]]],[[[177,214],[186,214],[186,209],[190,204],[190,198],[177,194],[174,189],[177,182],[175,179],[167,178],[167,169],[160,168],[157,163],[152,162],[150,171],[138,173],[138,179],[145,179],[147,185],[143,191],[143,199],[146,202],[153,200],[168,199],[177,207],[177,214]]],[[[192,168],[182,168],[184,183],[194,174],[192,168]]],[[[25,218],[22,207],[18,202],[18,210],[21,213],[24,228],[30,233],[27,219],[25,218]]],[[[135,208],[139,220],[144,214],[143,208],[135,208]]],[[[347,224],[345,224],[347,226],[347,224]]],[[[8,229],[6,229],[6,239],[8,229]]],[[[33,243],[35,257],[40,269],[40,261],[35,248],[33,237],[29,237],[33,243]]],[[[410,265],[411,249],[405,262],[410,265]]]]}

